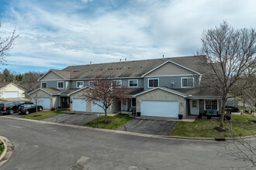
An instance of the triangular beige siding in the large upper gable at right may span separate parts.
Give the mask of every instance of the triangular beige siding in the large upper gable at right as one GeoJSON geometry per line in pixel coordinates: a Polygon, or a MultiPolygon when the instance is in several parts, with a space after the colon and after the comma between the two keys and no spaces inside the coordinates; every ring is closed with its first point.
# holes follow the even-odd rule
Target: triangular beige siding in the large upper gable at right
{"type": "Polygon", "coordinates": [[[173,63],[166,63],[164,66],[159,67],[157,70],[147,74],[147,76],[169,76],[169,75],[187,75],[195,74],[192,71],[186,70],[181,66],[177,66],[173,63]]]}

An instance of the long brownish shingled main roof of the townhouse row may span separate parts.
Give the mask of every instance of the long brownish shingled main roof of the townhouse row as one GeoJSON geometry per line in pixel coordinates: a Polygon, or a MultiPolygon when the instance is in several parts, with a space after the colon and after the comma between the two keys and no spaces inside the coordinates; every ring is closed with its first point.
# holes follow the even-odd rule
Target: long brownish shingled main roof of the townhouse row
{"type": "Polygon", "coordinates": [[[175,63],[187,70],[192,70],[194,73],[200,74],[202,73],[202,63],[206,62],[206,56],[181,56],[164,59],[143,59],[116,63],[67,66],[61,72],[70,72],[68,77],[71,77],[72,80],[92,79],[103,73],[107,73],[112,77],[141,77],[166,62],[175,63]]]}

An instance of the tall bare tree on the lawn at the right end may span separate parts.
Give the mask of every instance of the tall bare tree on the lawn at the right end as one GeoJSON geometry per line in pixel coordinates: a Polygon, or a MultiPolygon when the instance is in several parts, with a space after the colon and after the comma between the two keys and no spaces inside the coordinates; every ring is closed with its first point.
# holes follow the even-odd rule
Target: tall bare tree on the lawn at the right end
{"type": "Polygon", "coordinates": [[[256,32],[255,29],[234,29],[223,22],[214,29],[202,32],[202,49],[209,70],[212,70],[211,80],[206,86],[217,90],[223,100],[220,127],[223,128],[225,103],[227,98],[240,95],[233,93],[232,87],[237,80],[243,79],[240,88],[247,86],[249,77],[255,73],[256,32]],[[243,77],[243,78],[242,78],[243,77]]]}

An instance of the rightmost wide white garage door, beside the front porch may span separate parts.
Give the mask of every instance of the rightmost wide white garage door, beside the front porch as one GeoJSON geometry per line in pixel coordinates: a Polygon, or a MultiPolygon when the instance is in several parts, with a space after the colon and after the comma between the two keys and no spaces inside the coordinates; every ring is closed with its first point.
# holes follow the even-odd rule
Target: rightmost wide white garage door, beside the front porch
{"type": "Polygon", "coordinates": [[[141,100],[141,115],[178,117],[178,101],[141,100]]]}

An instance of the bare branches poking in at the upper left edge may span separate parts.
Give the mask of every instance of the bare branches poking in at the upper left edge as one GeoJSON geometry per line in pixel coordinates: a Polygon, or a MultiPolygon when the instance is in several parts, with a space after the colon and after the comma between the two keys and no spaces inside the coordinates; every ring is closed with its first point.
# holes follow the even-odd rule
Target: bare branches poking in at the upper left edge
{"type": "MultiPolygon", "coordinates": [[[[0,16],[0,29],[1,29],[1,16],[0,16]]],[[[19,34],[17,33],[17,29],[15,28],[9,36],[2,36],[0,34],[0,63],[5,63],[5,57],[9,56],[9,50],[12,49],[14,45],[14,40],[18,38],[19,34]]]]}

